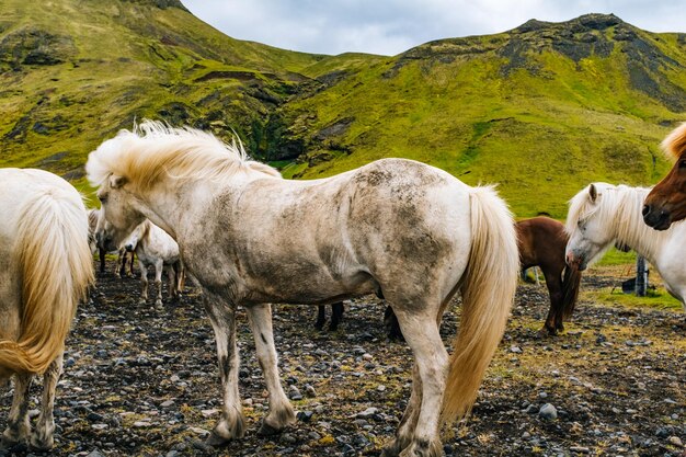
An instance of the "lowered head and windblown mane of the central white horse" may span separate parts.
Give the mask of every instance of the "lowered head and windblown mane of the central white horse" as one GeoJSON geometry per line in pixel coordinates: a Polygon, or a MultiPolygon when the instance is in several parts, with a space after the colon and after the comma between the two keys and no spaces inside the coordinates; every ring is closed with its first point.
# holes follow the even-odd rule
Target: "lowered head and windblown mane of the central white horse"
{"type": "Polygon", "coordinates": [[[89,156],[85,168],[91,184],[100,187],[103,219],[115,245],[122,245],[146,218],[173,236],[173,226],[140,202],[141,192],[179,192],[188,180],[281,178],[273,168],[249,160],[240,140],[226,145],[208,133],[150,121],[104,141],[89,156]]]}

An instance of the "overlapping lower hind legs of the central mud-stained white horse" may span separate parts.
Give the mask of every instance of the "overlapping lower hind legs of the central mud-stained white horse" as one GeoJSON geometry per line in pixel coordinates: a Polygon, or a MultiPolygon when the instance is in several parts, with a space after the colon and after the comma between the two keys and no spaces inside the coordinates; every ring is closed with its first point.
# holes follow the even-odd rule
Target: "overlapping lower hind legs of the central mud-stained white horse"
{"type": "Polygon", "coordinates": [[[443,455],[443,446],[438,437],[438,416],[448,374],[448,352],[443,345],[436,324],[436,315],[443,313],[426,312],[428,306],[421,308],[414,305],[410,309],[414,313],[403,311],[397,316],[402,334],[414,355],[416,369],[413,369],[413,395],[405,410],[407,419],[403,416],[404,422],[399,426],[395,442],[382,455],[439,457],[443,455]]]}

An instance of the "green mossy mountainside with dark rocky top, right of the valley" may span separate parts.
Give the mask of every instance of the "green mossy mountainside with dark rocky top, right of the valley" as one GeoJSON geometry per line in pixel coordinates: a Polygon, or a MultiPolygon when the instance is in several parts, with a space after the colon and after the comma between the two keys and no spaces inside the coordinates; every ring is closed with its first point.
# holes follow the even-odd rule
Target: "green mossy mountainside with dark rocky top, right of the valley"
{"type": "Polygon", "coordinates": [[[308,152],[285,173],[407,157],[500,183],[518,216],[562,218],[588,182],[666,171],[658,145],[686,118],[685,44],[603,14],[427,43],[289,102],[284,124],[308,152]]]}

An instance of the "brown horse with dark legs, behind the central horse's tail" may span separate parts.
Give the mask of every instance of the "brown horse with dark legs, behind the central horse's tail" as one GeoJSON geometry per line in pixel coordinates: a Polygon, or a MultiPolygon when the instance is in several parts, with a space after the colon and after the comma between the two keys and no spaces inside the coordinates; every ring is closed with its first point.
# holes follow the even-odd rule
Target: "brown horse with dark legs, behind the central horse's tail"
{"type": "Polygon", "coordinates": [[[564,330],[562,322],[572,316],[581,284],[579,269],[568,266],[564,261],[568,241],[564,225],[539,216],[517,221],[515,229],[522,269],[539,266],[544,272],[550,295],[550,310],[544,329],[554,335],[564,330]]]}

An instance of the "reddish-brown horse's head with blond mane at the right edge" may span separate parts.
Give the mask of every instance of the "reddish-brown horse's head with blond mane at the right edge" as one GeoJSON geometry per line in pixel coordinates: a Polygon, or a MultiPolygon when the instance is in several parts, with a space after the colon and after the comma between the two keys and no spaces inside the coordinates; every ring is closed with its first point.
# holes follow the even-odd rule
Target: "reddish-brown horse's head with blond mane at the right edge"
{"type": "Polygon", "coordinates": [[[666,230],[686,218],[686,123],[675,128],[661,146],[676,163],[645,197],[643,220],[655,230],[666,230]]]}

